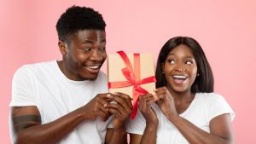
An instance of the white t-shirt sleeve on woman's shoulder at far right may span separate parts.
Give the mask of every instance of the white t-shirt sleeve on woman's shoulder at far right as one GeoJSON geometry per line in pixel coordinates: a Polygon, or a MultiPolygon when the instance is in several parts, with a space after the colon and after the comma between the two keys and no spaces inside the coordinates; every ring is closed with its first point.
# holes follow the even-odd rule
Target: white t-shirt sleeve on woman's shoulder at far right
{"type": "Polygon", "coordinates": [[[210,122],[212,118],[215,118],[221,114],[229,113],[231,121],[235,118],[235,112],[230,107],[229,103],[225,101],[222,95],[212,93],[210,99],[207,101],[208,113],[207,119],[210,122]]]}

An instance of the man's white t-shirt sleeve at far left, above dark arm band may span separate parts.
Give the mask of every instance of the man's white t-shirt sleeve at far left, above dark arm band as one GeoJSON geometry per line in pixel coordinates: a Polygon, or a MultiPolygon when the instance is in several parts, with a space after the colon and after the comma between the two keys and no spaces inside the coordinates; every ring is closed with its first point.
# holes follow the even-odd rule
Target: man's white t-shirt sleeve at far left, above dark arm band
{"type": "Polygon", "coordinates": [[[36,106],[32,72],[29,70],[28,66],[22,66],[15,72],[9,107],[36,106]]]}

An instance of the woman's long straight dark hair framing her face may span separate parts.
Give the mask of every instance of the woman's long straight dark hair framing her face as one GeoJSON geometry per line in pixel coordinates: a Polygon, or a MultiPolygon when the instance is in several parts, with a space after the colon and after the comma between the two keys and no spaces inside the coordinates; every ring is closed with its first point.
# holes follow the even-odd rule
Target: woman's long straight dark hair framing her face
{"type": "Polygon", "coordinates": [[[155,72],[155,77],[157,80],[155,84],[156,88],[166,86],[166,77],[162,73],[162,64],[165,63],[169,52],[180,44],[184,44],[191,49],[192,55],[195,57],[197,73],[199,73],[199,76],[195,78],[194,84],[192,84],[191,92],[212,92],[214,87],[214,79],[211,66],[208,63],[207,57],[204,51],[201,49],[200,44],[191,37],[172,37],[162,47],[157,60],[155,72]]]}

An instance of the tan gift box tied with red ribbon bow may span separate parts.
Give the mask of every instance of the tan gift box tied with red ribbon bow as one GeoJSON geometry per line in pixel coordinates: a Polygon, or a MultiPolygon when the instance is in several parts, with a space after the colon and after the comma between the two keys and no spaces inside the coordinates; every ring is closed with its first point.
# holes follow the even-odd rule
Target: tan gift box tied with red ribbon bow
{"type": "Polygon", "coordinates": [[[135,118],[139,95],[152,93],[155,88],[154,56],[117,53],[108,55],[108,89],[110,93],[121,92],[131,96],[131,118],[135,118]]]}

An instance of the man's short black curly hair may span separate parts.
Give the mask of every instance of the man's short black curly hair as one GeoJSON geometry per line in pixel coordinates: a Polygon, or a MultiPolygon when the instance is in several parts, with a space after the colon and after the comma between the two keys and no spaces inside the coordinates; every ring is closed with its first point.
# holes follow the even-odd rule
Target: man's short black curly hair
{"type": "Polygon", "coordinates": [[[105,31],[106,23],[102,14],[87,7],[72,6],[61,14],[56,24],[60,41],[67,42],[68,37],[79,30],[95,29],[105,31]]]}

